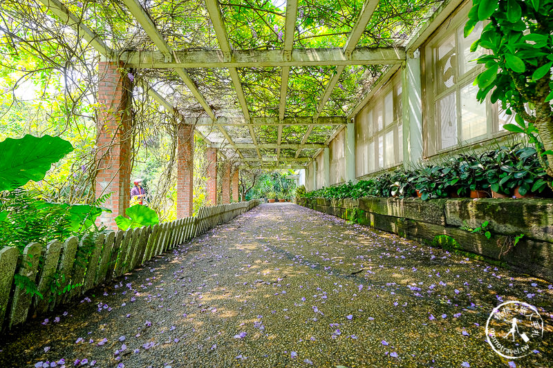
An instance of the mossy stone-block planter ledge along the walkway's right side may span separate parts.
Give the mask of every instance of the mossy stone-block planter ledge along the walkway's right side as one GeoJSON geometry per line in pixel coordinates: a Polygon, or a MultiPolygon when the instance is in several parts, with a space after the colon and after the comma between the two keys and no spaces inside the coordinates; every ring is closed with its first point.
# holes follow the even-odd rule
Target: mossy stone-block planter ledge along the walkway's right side
{"type": "Polygon", "coordinates": [[[297,203],[427,244],[436,245],[437,235],[449,235],[462,251],[553,281],[553,200],[363,197],[298,198],[297,203]],[[490,239],[460,229],[474,229],[485,221],[489,222],[490,239]],[[514,237],[521,234],[524,237],[514,246],[514,237]]]}

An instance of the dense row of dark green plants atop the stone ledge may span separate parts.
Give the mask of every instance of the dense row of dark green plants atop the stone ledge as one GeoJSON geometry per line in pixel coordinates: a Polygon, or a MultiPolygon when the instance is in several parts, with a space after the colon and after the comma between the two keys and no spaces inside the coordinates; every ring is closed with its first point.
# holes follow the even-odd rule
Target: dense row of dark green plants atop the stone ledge
{"type": "Polygon", "coordinates": [[[413,170],[397,169],[382,173],[371,180],[355,184],[348,182],[321,188],[300,197],[359,198],[359,197],[416,197],[422,200],[459,195],[468,197],[470,191],[495,191],[514,195],[518,189],[526,193],[545,193],[549,177],[538,161],[536,149],[516,144],[500,146],[480,155],[457,155],[440,164],[421,166],[413,170]]]}

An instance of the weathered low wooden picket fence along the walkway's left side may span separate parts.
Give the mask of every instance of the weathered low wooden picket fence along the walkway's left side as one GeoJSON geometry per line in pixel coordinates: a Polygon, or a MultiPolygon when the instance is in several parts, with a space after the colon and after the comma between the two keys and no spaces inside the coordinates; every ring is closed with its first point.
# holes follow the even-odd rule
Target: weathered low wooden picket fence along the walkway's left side
{"type": "MultiPolygon", "coordinates": [[[[78,298],[86,291],[118,278],[152,257],[173,249],[223,224],[234,217],[250,211],[259,204],[259,200],[221,204],[202,207],[194,217],[182,218],[172,222],[145,226],[126,231],[101,233],[94,239],[73,236],[65,242],[53,240],[46,247],[31,243],[23,254],[12,246],[0,250],[0,322],[1,327],[11,329],[28,316],[39,316],[63,304],[78,298]],[[93,251],[84,264],[75,262],[77,247],[82,244],[93,245],[93,251]],[[39,258],[44,260],[39,269],[39,258]],[[15,274],[35,280],[43,299],[30,296],[24,289],[15,287],[15,274]],[[62,281],[62,288],[71,284],[80,284],[61,296],[54,296],[50,284],[55,275],[62,281]]],[[[82,262],[82,260],[81,260],[82,262]]]]}

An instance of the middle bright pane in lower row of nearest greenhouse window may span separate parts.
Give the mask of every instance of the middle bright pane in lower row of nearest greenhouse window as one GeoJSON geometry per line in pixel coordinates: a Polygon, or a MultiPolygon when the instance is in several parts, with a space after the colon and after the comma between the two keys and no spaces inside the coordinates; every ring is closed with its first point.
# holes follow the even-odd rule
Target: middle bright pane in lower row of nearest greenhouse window
{"type": "Polygon", "coordinates": [[[461,88],[461,138],[479,137],[487,132],[486,103],[476,100],[478,86],[467,84],[461,88]]]}

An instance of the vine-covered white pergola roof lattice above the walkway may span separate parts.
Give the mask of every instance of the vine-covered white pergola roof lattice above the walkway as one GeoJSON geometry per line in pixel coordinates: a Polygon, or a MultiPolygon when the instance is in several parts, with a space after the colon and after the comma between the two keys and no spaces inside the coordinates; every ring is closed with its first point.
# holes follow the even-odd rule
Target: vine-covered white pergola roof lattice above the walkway
{"type": "MultiPolygon", "coordinates": [[[[421,26],[420,22],[413,22],[417,24],[410,25],[405,21],[406,30],[400,28],[402,22],[399,26],[392,24],[391,27],[397,30],[397,37],[375,42],[374,37],[371,39],[366,35],[371,31],[367,27],[373,19],[373,14],[378,11],[378,19],[373,20],[373,24],[378,24],[379,21],[385,21],[386,10],[393,7],[390,6],[391,3],[385,1],[366,0],[355,14],[353,27],[348,32],[342,32],[347,33],[347,36],[339,36],[345,41],[342,42],[337,37],[337,42],[342,43],[338,45],[339,47],[332,45],[334,47],[306,48],[298,45],[298,41],[294,41],[294,38],[298,38],[294,35],[299,34],[303,24],[299,24],[298,21],[301,2],[288,0],[283,10],[285,12],[283,30],[278,35],[281,41],[278,45],[280,47],[241,49],[234,48],[229,41],[227,31],[229,25],[225,24],[221,3],[217,0],[205,0],[203,3],[205,8],[198,9],[198,14],[205,14],[207,24],[214,32],[215,41],[212,42],[211,49],[206,47],[200,49],[182,48],[179,42],[175,42],[174,36],[171,37],[172,44],[167,41],[167,35],[171,33],[167,25],[163,27],[163,31],[160,30],[160,26],[151,15],[151,10],[145,8],[145,6],[150,9],[158,7],[160,4],[158,1],[118,0],[111,3],[116,3],[120,6],[120,10],[126,10],[135,19],[134,23],[138,28],[137,32],[141,35],[142,47],[115,50],[104,40],[105,37],[101,37],[93,30],[90,22],[87,24],[84,21],[83,14],[77,17],[72,12],[79,8],[79,2],[73,1],[71,4],[66,4],[59,0],[39,1],[67,26],[73,28],[97,52],[100,52],[104,59],[122,61],[126,68],[134,70],[176,73],[178,78],[171,79],[171,82],[186,86],[186,92],[194,98],[195,104],[201,107],[200,113],[190,114],[186,106],[179,106],[178,101],[171,101],[167,93],[164,97],[162,90],[167,88],[156,91],[152,83],[144,79],[140,83],[160,105],[180,117],[181,123],[194,126],[196,133],[203,135],[208,146],[218,148],[226,157],[250,166],[292,168],[305,167],[321,150],[328,148],[332,138],[351,123],[352,118],[366,104],[372,93],[404,64],[406,56],[412,54],[422,40],[441,23],[441,10],[447,8],[443,13],[448,14],[451,8],[460,3],[458,0],[444,1],[444,3],[415,1],[411,8],[406,8],[405,12],[409,9],[414,12],[413,8],[420,3],[422,5],[416,9],[417,14],[424,14],[422,18],[424,20],[430,18],[431,21],[427,21],[424,26],[421,26]],[[381,8],[379,8],[380,5],[382,5],[381,8]],[[433,14],[429,14],[432,10],[434,10],[433,14]],[[377,23],[374,23],[375,21],[377,23]],[[363,42],[360,42],[361,40],[363,42]],[[379,43],[385,44],[378,46],[379,43]],[[374,44],[377,46],[373,46],[374,44]],[[364,72],[359,77],[359,67],[366,66],[373,66],[373,69],[371,72],[360,69],[364,72]],[[190,70],[197,70],[197,68],[218,70],[221,75],[227,77],[225,81],[232,82],[233,95],[230,98],[238,101],[234,110],[232,108],[226,110],[219,108],[220,111],[214,109],[214,101],[206,97],[205,91],[198,87],[198,81],[191,77],[190,70]],[[319,72],[324,70],[321,73],[318,88],[308,91],[291,90],[291,86],[295,85],[294,81],[290,82],[290,79],[294,79],[293,68],[294,70],[301,68],[308,72],[314,68],[319,68],[319,72]],[[279,92],[274,96],[278,101],[278,108],[268,109],[274,114],[268,114],[267,110],[252,111],[252,106],[248,104],[241,70],[250,69],[254,72],[256,70],[266,72],[272,69],[272,72],[279,74],[280,81],[277,86],[279,92]],[[355,72],[358,78],[352,79],[352,75],[355,77],[355,72]],[[350,85],[355,86],[357,95],[353,96],[353,103],[350,101],[349,104],[344,104],[337,91],[343,88],[341,81],[346,81],[348,77],[350,85]],[[305,111],[298,113],[287,109],[287,101],[291,93],[312,95],[312,100],[316,102],[315,110],[305,116],[305,111]],[[332,108],[328,108],[329,101],[333,102],[332,108]],[[339,114],[336,113],[336,106],[341,110],[339,114]]],[[[355,1],[353,5],[355,6],[355,1]]],[[[229,6],[234,9],[241,4],[225,3],[225,7],[229,6]]],[[[259,9],[255,9],[247,1],[242,6],[254,8],[254,11],[259,13],[259,9]]],[[[355,12],[355,9],[350,12],[355,12]]],[[[398,9],[397,12],[401,10],[398,9]]],[[[101,17],[100,13],[95,16],[101,17]]],[[[158,14],[158,19],[163,19],[162,14],[158,14]]],[[[257,21],[265,20],[260,14],[257,21]]],[[[270,26],[267,21],[265,23],[266,26],[270,26]]],[[[276,30],[277,26],[274,28],[275,33],[276,30]]],[[[115,42],[112,40],[111,43],[115,42]]],[[[348,92],[346,91],[346,94],[348,92]]]]}

